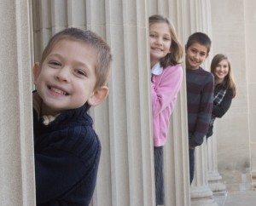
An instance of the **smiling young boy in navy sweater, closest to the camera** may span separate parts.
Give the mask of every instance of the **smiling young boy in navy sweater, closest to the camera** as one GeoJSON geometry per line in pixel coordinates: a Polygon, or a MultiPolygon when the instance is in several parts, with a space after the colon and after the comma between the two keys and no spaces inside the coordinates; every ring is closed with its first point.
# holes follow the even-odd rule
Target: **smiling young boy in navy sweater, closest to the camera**
{"type": "Polygon", "coordinates": [[[111,61],[101,37],[68,28],[49,40],[33,66],[38,206],[90,204],[101,144],[87,112],[108,96],[111,61]]]}

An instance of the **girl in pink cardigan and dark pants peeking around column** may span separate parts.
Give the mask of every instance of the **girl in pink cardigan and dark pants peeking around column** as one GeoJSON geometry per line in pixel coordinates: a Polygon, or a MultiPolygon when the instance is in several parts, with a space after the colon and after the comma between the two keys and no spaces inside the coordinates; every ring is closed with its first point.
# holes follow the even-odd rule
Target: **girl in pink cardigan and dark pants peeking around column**
{"type": "Polygon", "coordinates": [[[149,17],[151,95],[154,134],[154,175],[156,204],[165,203],[163,146],[177,94],[183,80],[180,60],[183,47],[172,22],[161,15],[149,17]]]}

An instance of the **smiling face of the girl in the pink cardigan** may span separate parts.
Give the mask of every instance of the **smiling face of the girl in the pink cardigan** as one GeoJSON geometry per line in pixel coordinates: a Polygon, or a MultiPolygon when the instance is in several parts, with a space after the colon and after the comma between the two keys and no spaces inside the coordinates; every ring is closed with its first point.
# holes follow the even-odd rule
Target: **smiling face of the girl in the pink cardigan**
{"type": "Polygon", "coordinates": [[[150,66],[170,53],[171,33],[166,23],[154,23],[149,27],[150,66]]]}

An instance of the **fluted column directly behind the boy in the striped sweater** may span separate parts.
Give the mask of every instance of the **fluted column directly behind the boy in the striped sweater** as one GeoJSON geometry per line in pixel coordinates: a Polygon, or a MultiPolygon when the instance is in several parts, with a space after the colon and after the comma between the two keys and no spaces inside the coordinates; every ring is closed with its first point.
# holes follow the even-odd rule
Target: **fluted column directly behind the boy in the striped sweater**
{"type": "MultiPolygon", "coordinates": [[[[211,3],[210,0],[195,0],[187,4],[189,12],[186,21],[189,22],[190,33],[195,31],[207,33],[212,38],[212,21],[211,21],[211,3]],[[189,19],[188,19],[189,18],[189,19]]],[[[213,44],[212,44],[213,46],[213,44]]],[[[212,49],[212,48],[211,48],[212,49]]],[[[212,50],[211,50],[212,51],[212,50]]],[[[202,67],[209,71],[210,60],[212,59],[211,51],[209,57],[203,63],[202,67]]],[[[212,200],[212,191],[207,183],[207,152],[206,142],[195,148],[195,178],[193,180],[190,195],[191,205],[207,206],[218,205],[212,200]]]]}

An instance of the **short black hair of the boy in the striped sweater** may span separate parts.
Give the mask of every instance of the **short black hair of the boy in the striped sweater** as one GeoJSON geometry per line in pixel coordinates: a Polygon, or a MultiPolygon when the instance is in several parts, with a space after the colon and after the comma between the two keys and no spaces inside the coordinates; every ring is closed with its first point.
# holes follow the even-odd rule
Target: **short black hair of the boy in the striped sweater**
{"type": "Polygon", "coordinates": [[[207,47],[207,54],[209,54],[211,49],[212,41],[207,34],[202,32],[195,32],[189,36],[186,44],[186,49],[188,49],[193,43],[200,43],[201,45],[207,47]]]}

